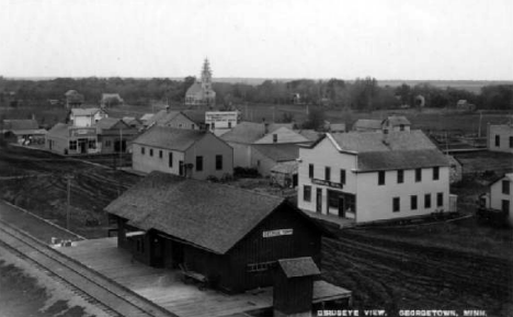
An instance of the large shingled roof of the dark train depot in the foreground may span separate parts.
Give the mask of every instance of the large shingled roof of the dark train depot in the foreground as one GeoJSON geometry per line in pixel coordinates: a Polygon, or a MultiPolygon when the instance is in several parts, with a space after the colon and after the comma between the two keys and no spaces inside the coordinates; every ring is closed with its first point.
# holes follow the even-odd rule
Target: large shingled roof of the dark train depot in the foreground
{"type": "Polygon", "coordinates": [[[137,228],[156,229],[224,254],[284,201],[240,188],[151,172],[105,211],[137,228]]]}

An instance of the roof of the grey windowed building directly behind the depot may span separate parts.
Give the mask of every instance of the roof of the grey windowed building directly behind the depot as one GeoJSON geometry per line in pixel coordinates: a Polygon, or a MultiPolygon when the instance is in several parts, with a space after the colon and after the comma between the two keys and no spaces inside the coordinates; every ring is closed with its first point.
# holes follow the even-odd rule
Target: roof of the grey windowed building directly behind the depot
{"type": "Polygon", "coordinates": [[[133,143],[184,151],[205,137],[207,133],[205,131],[155,125],[133,143]]]}

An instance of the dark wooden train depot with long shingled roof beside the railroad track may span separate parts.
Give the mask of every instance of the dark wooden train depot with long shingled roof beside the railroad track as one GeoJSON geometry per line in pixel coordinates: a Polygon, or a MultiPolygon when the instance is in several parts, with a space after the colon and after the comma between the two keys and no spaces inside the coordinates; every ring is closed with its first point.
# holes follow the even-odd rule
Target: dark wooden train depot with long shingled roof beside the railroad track
{"type": "MultiPolygon", "coordinates": [[[[303,259],[288,263],[296,278],[318,274],[321,236],[327,234],[282,197],[162,172],[150,173],[106,212],[117,222],[118,248],[135,260],[186,271],[227,294],[275,285],[280,260],[303,259]]],[[[292,292],[283,291],[283,279],[280,290],[292,292]]],[[[310,288],[317,294],[314,302],[351,296],[318,278],[310,288]]]]}

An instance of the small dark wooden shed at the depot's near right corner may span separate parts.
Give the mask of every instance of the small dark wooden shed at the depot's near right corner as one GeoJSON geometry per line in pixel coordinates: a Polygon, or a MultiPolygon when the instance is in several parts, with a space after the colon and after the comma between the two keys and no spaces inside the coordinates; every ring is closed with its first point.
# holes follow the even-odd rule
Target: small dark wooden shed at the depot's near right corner
{"type": "Polygon", "coordinates": [[[274,316],[311,316],[314,281],[320,270],[310,257],[277,261],[274,279],[274,316]]]}

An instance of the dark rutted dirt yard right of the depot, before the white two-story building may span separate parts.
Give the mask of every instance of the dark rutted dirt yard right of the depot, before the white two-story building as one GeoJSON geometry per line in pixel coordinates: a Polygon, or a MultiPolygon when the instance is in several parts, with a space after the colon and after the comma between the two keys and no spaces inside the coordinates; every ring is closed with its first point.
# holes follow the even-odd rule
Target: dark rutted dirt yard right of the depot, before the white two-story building
{"type": "Polygon", "coordinates": [[[513,316],[513,235],[464,223],[344,230],[324,239],[323,278],[357,308],[485,309],[513,316]]]}

